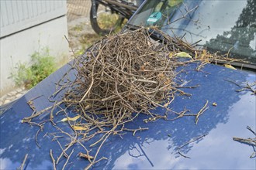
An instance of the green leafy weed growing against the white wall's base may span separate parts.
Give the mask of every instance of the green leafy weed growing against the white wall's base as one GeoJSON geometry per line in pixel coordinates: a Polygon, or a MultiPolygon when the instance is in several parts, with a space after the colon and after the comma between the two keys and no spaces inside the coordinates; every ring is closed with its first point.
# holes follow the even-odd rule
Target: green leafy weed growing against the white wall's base
{"type": "Polygon", "coordinates": [[[50,56],[49,49],[33,53],[31,55],[31,63],[18,63],[16,70],[11,73],[11,78],[16,85],[25,85],[26,88],[32,88],[40,83],[56,70],[54,57],[50,56]]]}

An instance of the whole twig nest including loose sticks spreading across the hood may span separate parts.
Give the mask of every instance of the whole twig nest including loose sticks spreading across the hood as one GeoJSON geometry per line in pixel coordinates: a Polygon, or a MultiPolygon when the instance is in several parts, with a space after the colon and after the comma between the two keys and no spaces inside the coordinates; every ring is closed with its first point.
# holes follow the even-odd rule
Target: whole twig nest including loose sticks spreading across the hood
{"type": "MultiPolygon", "coordinates": [[[[142,28],[107,36],[96,42],[84,55],[74,59],[71,70],[75,73],[75,79],[61,79],[64,84],[62,86],[58,83],[59,90],[54,95],[64,90],[62,100],[23,119],[23,122],[31,123],[33,118],[50,113],[50,121],[62,131],[54,121],[60,111],[54,114],[54,109],[61,108],[66,114],[67,117],[61,121],[67,121],[75,134],[62,131],[71,137],[71,143],[63,147],[64,150],[57,157],[57,161],[50,151],[54,167],[63,156],[67,157],[68,162],[70,156],[66,151],[76,143],[85,148],[85,153],[80,153],[79,156],[88,159],[87,168],[92,167],[104,159],[97,158],[97,155],[109,135],[120,134],[122,131],[133,131],[134,134],[147,129],[126,128],[126,123],[133,121],[140,114],[147,115],[146,123],[159,118],[167,119],[166,115],[154,114],[150,110],[155,107],[168,110],[167,106],[174,100],[175,93],[185,94],[178,89],[180,84],[176,80],[176,68],[199,60],[199,70],[205,63],[209,63],[209,60],[217,58],[206,51],[194,49],[182,39],[163,36],[161,41],[155,41],[150,38],[155,32],[159,30],[149,31],[142,28]],[[181,62],[176,56],[194,56],[195,59],[181,62]],[[64,80],[67,82],[64,83],[64,80]],[[68,109],[73,110],[72,113],[77,116],[70,117],[68,109]],[[98,138],[90,147],[99,147],[92,154],[90,149],[85,147],[85,143],[97,135],[98,138]]],[[[29,105],[34,109],[31,102],[29,105]]],[[[206,110],[206,105],[202,110],[206,110]]],[[[176,114],[182,117],[185,111],[176,114]]],[[[193,116],[196,116],[198,121],[201,114],[202,111],[193,116]]],[[[43,124],[39,124],[40,128],[43,124]]]]}

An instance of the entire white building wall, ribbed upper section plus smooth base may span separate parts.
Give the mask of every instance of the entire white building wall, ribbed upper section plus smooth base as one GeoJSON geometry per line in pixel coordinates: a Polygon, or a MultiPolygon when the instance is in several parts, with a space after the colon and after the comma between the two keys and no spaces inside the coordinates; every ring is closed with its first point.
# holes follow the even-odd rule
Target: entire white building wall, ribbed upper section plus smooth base
{"type": "Polygon", "coordinates": [[[8,77],[17,63],[29,63],[43,47],[60,62],[68,55],[68,43],[65,0],[1,0],[0,5],[2,97],[15,85],[8,77]]]}

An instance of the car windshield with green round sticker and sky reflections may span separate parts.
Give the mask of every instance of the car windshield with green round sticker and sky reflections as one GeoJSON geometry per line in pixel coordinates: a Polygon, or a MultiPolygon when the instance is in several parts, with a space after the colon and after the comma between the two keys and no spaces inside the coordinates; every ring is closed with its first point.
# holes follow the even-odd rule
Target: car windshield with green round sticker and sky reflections
{"type": "Polygon", "coordinates": [[[129,24],[155,26],[211,53],[256,63],[255,0],[147,1],[129,24]]]}

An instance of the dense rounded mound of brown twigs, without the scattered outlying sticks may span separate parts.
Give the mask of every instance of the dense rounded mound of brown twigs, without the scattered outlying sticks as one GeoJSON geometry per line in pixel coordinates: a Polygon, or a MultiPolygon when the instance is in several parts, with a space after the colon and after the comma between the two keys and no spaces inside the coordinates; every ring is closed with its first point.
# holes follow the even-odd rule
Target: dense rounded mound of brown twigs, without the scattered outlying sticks
{"type": "MultiPolygon", "coordinates": [[[[147,29],[102,39],[74,64],[76,80],[65,93],[66,104],[83,115],[101,115],[105,124],[150,114],[170,98],[178,62],[171,58],[173,39],[154,42],[147,29]],[[88,113],[86,113],[88,112],[88,113]]],[[[88,117],[88,116],[86,116],[88,117]]],[[[90,120],[88,120],[90,121],[90,120]]]]}

